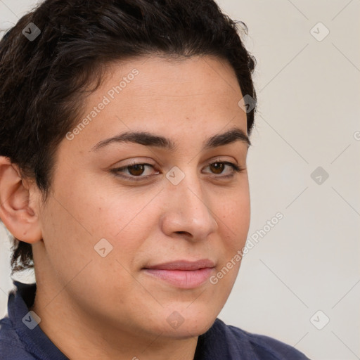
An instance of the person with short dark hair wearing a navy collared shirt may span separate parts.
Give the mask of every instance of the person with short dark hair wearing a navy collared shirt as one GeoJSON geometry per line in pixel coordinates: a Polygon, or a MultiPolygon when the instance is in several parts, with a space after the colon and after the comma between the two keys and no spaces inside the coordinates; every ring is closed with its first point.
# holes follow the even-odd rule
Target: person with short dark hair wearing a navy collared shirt
{"type": "Polygon", "coordinates": [[[46,0],[0,58],[0,218],[36,276],[1,359],[307,359],[217,319],[250,224],[255,59],[233,20],[46,0]]]}

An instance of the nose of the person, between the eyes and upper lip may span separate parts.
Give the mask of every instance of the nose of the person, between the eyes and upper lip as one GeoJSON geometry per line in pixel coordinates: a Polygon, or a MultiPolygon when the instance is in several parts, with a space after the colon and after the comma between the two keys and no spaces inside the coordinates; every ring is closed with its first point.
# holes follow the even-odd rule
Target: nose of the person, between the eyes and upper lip
{"type": "Polygon", "coordinates": [[[167,200],[161,226],[167,236],[199,241],[217,231],[216,214],[212,211],[214,199],[204,191],[198,176],[187,174],[179,184],[167,184],[164,195],[167,200]]]}

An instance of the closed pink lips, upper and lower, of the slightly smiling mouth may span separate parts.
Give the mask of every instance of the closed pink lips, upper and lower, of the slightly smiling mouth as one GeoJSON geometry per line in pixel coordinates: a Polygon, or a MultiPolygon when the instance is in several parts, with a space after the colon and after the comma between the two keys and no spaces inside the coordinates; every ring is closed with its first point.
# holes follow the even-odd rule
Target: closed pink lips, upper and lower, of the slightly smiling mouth
{"type": "Polygon", "coordinates": [[[146,266],[143,271],[155,279],[177,288],[193,289],[203,285],[214,271],[214,262],[202,259],[195,262],[178,260],[146,266]]]}

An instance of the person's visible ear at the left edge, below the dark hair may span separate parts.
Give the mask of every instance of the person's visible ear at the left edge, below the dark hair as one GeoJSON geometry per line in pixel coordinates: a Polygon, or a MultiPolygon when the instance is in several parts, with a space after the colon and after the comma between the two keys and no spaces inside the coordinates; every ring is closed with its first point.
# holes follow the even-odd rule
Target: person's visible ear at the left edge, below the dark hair
{"type": "Polygon", "coordinates": [[[18,166],[0,156],[0,219],[15,238],[25,243],[41,240],[39,189],[25,181],[18,166]]]}

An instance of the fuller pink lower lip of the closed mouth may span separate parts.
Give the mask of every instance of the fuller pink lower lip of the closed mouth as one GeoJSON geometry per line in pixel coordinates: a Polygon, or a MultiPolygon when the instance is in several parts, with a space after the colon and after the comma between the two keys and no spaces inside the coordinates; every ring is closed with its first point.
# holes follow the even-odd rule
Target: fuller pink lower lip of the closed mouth
{"type": "Polygon", "coordinates": [[[193,289],[207,281],[214,268],[206,267],[198,270],[160,270],[144,269],[146,273],[177,286],[178,288],[193,289]]]}

